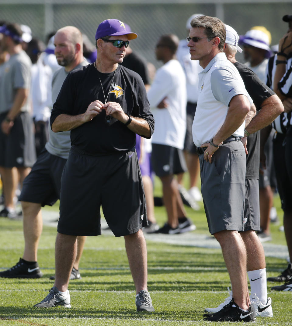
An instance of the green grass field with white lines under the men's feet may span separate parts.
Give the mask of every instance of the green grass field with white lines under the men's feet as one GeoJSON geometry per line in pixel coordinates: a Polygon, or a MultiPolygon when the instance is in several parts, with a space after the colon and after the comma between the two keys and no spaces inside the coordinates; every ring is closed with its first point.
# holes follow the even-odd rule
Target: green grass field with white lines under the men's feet
{"type": "MultiPolygon", "coordinates": [[[[161,190],[155,190],[156,195],[161,190]]],[[[275,205],[282,224],[280,200],[275,205]]],[[[58,205],[50,208],[58,213],[58,205]]],[[[196,224],[192,232],[208,234],[201,210],[187,208],[196,224]]],[[[164,207],[156,207],[160,225],[165,222],[164,207]]],[[[285,245],[279,225],[272,225],[272,243],[285,245]]],[[[0,269],[14,265],[23,253],[21,221],[0,218],[0,269]]],[[[80,264],[82,279],[71,281],[71,309],[56,307],[35,309],[53,282],[56,229],[44,226],[38,262],[44,276],[40,279],[0,278],[0,325],[230,325],[203,321],[205,307],[215,307],[228,296],[229,277],[219,249],[164,244],[147,240],[148,289],[155,313],[137,313],[135,289],[129,271],[123,238],[111,235],[88,237],[80,264]]],[[[266,259],[267,275],[286,268],[284,259],[266,259]]],[[[292,325],[291,292],[271,291],[274,317],[257,318],[257,325],[292,325]]],[[[237,324],[237,323],[233,323],[237,324]]],[[[233,325],[232,324],[232,325],[233,325]]]]}

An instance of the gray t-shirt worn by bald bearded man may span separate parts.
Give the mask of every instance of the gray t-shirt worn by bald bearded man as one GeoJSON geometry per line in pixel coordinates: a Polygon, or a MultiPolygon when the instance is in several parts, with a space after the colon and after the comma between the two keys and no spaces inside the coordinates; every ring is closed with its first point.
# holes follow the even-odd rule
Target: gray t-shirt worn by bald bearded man
{"type": "MultiPolygon", "coordinates": [[[[88,62],[84,60],[83,62],[81,62],[80,65],[76,66],[72,70],[87,65],[88,62]]],[[[61,67],[60,69],[55,71],[52,80],[52,102],[53,103],[56,102],[56,99],[59,95],[63,82],[66,79],[69,72],[70,71],[67,72],[64,67],[61,67]]],[[[45,148],[50,154],[67,159],[71,148],[70,130],[53,132],[49,124],[49,140],[47,141],[45,148]]]]}

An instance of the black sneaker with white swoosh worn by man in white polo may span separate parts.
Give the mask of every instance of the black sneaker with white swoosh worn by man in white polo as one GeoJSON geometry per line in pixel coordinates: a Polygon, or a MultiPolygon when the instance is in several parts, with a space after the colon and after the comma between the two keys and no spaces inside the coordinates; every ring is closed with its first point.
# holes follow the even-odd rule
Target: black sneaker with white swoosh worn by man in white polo
{"type": "Polygon", "coordinates": [[[204,314],[207,321],[255,321],[256,313],[253,305],[249,306],[247,312],[242,311],[234,302],[233,298],[229,304],[224,306],[215,314],[204,314]]]}

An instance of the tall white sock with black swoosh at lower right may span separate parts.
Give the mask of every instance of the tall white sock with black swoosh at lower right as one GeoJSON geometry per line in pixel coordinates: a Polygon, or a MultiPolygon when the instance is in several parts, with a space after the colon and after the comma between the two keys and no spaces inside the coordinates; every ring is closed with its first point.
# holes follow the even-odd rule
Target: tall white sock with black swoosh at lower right
{"type": "Polygon", "coordinates": [[[263,304],[266,304],[268,300],[266,269],[262,268],[256,271],[249,271],[247,272],[247,275],[249,278],[251,294],[255,293],[259,300],[263,304]]]}

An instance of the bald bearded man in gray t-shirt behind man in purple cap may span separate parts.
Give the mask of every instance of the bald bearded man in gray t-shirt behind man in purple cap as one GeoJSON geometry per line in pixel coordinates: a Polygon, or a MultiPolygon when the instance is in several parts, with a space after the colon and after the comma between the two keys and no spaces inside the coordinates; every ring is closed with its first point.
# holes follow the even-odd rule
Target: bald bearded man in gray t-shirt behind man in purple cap
{"type": "MultiPolygon", "coordinates": [[[[76,27],[66,26],[59,29],[55,35],[54,44],[57,61],[62,67],[53,75],[53,103],[55,103],[68,73],[88,64],[83,57],[82,34],[76,27]]],[[[53,206],[60,199],[61,175],[70,148],[70,131],[54,133],[49,126],[49,140],[33,165],[30,174],[25,178],[19,198],[23,212],[24,253],[19,262],[7,271],[1,272],[0,277],[42,277],[43,274],[37,263],[38,243],[43,229],[41,207],[53,206]]],[[[78,268],[85,240],[86,237],[82,236],[77,239],[77,257],[70,279],[81,277],[78,268]]],[[[54,279],[54,276],[51,279],[54,279]]]]}

